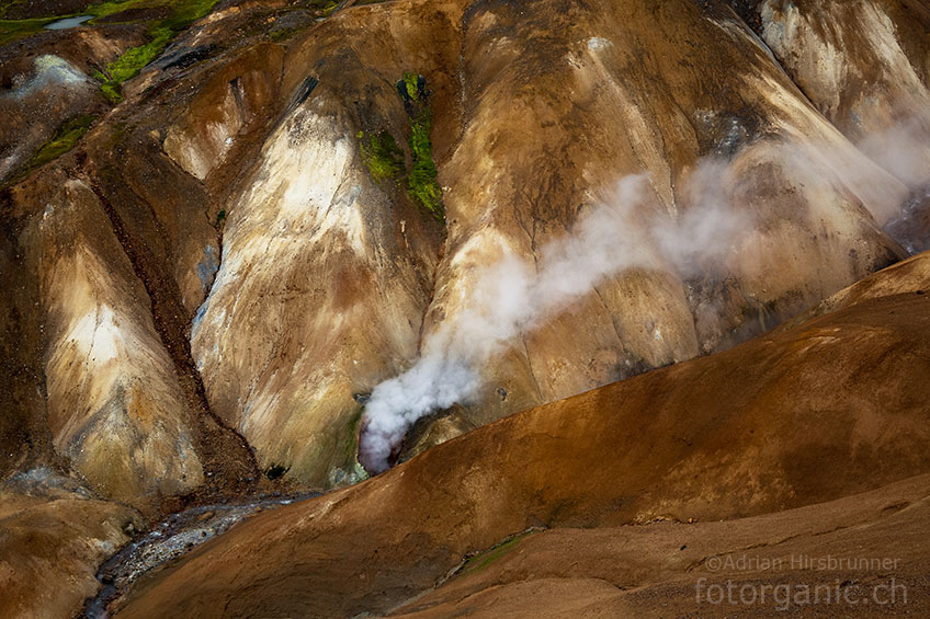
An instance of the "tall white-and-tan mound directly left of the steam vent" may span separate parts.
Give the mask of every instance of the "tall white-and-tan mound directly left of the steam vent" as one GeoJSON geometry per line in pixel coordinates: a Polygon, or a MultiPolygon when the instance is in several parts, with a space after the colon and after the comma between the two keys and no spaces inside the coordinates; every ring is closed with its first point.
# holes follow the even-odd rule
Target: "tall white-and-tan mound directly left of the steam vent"
{"type": "MultiPolygon", "coordinates": [[[[192,329],[214,410],[262,468],[311,484],[359,478],[353,394],[416,357],[440,249],[438,225],[371,176],[358,134],[389,130],[402,144],[394,82],[418,36],[453,27],[449,7],[371,10],[365,31],[347,39],[345,25],[321,24],[285,59],[291,94],[228,206],[216,283],[192,329]],[[421,10],[432,16],[410,19],[421,10]]],[[[435,54],[434,71],[455,57],[435,54]]]]}

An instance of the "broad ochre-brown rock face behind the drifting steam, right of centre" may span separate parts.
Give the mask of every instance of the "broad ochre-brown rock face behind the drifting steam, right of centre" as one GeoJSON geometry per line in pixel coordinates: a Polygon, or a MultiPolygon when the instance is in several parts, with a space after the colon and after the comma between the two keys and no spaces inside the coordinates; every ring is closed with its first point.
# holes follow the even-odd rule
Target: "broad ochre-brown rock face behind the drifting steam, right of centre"
{"type": "MultiPolygon", "coordinates": [[[[690,2],[651,10],[543,3],[533,13],[535,20],[525,19],[496,4],[466,13],[463,98],[476,104],[466,108],[466,128],[443,169],[452,187],[450,241],[431,313],[447,319],[458,311],[456,299],[470,298],[475,286],[472,274],[502,247],[532,260],[570,230],[579,211],[630,199],[614,192],[625,174],[647,173],[654,195],[636,196],[636,208],[655,218],[685,220],[705,200],[721,200],[752,226],[738,238],[710,240],[733,255],[695,275],[643,243],[646,226],[631,221],[617,242],[643,254],[644,267],[614,274],[578,301],[570,319],[553,317],[528,334],[512,353],[522,357],[515,367],[487,368],[488,383],[515,397],[502,406],[485,398],[481,414],[523,405],[521,391],[551,401],[729,346],[854,280],[855,271],[894,260],[894,243],[873,219],[887,210],[829,161],[857,160],[851,145],[733,14],[690,2]],[[572,27],[562,27],[563,19],[572,27]],[[542,32],[558,45],[533,45],[542,32]],[[689,51],[695,45],[706,51],[700,61],[689,51]],[[490,49],[496,62],[483,53],[490,49]],[[795,138],[823,153],[805,170],[795,165],[795,138]],[[707,156],[722,168],[707,172],[707,156]],[[808,172],[831,179],[829,188],[810,187],[808,172]],[[854,249],[865,253],[852,257],[854,249]],[[810,277],[815,262],[820,267],[810,277]],[[726,293],[714,298],[721,287],[726,293]],[[717,302],[723,307],[707,307],[717,302]],[[510,383],[518,377],[532,382],[510,383]]],[[[869,172],[903,199],[891,179],[869,172]]]]}

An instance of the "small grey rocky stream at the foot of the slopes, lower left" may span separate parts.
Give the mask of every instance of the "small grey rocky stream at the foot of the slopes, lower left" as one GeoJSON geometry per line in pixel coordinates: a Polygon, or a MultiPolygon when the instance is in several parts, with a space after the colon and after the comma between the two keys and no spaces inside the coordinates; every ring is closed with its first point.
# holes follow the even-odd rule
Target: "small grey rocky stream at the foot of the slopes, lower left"
{"type": "Polygon", "coordinates": [[[83,617],[106,619],[110,616],[106,610],[110,603],[125,594],[139,576],[226,532],[232,525],[259,512],[318,495],[274,493],[254,501],[200,505],[172,514],[127,543],[100,566],[97,580],[102,586],[95,597],[88,598],[83,617]]]}

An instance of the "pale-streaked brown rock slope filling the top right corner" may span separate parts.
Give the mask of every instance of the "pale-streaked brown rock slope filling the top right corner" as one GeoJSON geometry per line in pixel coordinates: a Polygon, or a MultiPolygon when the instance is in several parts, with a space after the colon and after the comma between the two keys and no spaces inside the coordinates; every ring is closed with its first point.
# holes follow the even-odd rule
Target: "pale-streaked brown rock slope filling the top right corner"
{"type": "Polygon", "coordinates": [[[891,151],[926,145],[930,130],[930,10],[908,1],[768,0],[759,12],[763,41],[805,96],[888,171],[926,181],[926,150],[891,151]]]}

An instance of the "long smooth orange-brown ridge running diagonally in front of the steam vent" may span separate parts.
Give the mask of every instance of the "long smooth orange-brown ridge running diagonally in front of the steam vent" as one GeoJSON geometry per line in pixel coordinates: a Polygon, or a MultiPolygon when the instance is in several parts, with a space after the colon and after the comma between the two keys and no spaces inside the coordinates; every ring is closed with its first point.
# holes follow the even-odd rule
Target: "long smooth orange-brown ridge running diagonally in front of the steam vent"
{"type": "Polygon", "coordinates": [[[257,517],[127,617],[383,612],[531,526],[746,517],[930,470],[930,300],[898,294],[541,406],[257,517]]]}

